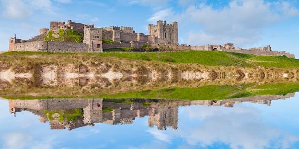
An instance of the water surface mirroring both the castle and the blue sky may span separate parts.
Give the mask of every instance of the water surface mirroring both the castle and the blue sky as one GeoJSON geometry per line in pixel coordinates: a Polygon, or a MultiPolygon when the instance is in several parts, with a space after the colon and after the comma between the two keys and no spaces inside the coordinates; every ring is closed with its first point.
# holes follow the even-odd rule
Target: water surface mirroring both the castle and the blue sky
{"type": "Polygon", "coordinates": [[[0,148],[299,149],[298,105],[299,93],[215,101],[3,99],[0,148]]]}

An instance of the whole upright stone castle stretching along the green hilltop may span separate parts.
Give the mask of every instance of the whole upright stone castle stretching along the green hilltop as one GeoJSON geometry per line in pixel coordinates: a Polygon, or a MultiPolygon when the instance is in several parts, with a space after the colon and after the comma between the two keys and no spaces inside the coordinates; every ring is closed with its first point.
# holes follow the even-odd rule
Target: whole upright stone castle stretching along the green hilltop
{"type": "Polygon", "coordinates": [[[166,21],[157,21],[156,25],[149,24],[149,35],[136,33],[133,27],[110,26],[96,28],[94,24],[82,24],[68,20],[65,22],[50,22],[50,29],[41,28],[39,35],[28,39],[17,39],[16,35],[9,39],[9,51],[46,51],[46,52],[103,52],[103,49],[113,48],[143,48],[147,45],[156,49],[194,50],[194,51],[227,51],[259,56],[287,56],[295,58],[294,54],[272,51],[271,46],[242,49],[235,48],[234,44],[191,46],[178,43],[178,23],[167,24],[166,21]],[[49,30],[72,29],[84,34],[83,42],[44,41],[49,30]],[[104,39],[112,40],[106,43],[104,39]]]}

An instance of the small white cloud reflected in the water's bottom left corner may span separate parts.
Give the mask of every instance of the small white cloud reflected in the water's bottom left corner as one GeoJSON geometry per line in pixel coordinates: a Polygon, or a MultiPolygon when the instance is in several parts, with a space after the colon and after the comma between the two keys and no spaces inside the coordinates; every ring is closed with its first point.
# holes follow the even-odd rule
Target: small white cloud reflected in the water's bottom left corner
{"type": "Polygon", "coordinates": [[[2,149],[53,149],[54,142],[58,143],[55,137],[44,139],[33,139],[27,133],[10,133],[3,135],[2,149]]]}

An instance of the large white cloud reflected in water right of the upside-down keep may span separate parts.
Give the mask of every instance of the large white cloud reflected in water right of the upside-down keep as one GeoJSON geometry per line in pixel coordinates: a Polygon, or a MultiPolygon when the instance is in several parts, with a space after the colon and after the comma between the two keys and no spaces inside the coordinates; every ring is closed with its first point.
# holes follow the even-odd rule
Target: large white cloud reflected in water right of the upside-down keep
{"type": "Polygon", "coordinates": [[[210,146],[220,141],[233,149],[261,149],[269,147],[274,140],[279,142],[273,146],[280,145],[280,148],[288,148],[299,141],[297,136],[265,125],[259,111],[253,107],[190,106],[186,107],[186,114],[189,118],[202,120],[196,128],[185,127],[183,132],[174,132],[190,145],[210,146]]]}

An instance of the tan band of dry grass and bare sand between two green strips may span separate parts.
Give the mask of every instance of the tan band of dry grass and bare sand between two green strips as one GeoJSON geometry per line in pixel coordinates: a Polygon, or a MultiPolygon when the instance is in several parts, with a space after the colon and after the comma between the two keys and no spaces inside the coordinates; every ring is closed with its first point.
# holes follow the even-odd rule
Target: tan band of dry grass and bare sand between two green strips
{"type": "MultiPolygon", "coordinates": [[[[23,66],[26,68],[26,66],[23,66]]],[[[19,67],[19,68],[23,68],[19,67]]],[[[35,64],[24,73],[7,68],[0,71],[3,95],[72,96],[161,89],[165,87],[198,87],[243,83],[298,82],[297,69],[265,69],[240,67],[207,67],[196,64],[166,64],[134,60],[105,59],[86,64],[35,64]],[[24,79],[21,79],[24,78],[24,79]],[[30,89],[28,89],[30,88],[30,89]],[[63,90],[65,89],[65,90],[63,90]],[[24,91],[26,90],[26,91],[24,91]],[[25,92],[25,93],[24,93],[25,92]]]]}

